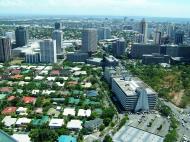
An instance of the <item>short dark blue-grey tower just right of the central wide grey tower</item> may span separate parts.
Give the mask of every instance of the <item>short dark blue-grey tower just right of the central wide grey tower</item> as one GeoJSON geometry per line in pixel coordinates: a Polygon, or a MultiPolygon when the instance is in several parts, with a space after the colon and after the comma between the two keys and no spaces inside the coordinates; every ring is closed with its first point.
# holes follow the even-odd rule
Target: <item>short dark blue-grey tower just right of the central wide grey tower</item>
{"type": "Polygon", "coordinates": [[[125,40],[120,39],[112,44],[112,52],[115,57],[121,57],[125,53],[125,40]]]}

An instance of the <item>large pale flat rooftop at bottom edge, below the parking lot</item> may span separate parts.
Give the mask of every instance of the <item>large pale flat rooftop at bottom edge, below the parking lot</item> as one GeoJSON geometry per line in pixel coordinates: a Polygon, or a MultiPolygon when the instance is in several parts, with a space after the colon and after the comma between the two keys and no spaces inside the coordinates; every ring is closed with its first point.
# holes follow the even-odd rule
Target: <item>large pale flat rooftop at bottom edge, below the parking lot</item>
{"type": "Polygon", "coordinates": [[[164,138],[125,125],[113,137],[113,142],[163,142],[164,138]]]}

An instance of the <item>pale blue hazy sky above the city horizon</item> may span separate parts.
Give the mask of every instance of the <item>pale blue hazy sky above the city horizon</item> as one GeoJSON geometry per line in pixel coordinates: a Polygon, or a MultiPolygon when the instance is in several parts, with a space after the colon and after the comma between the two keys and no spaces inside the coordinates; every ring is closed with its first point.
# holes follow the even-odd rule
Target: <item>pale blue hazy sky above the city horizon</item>
{"type": "Polygon", "coordinates": [[[0,0],[3,14],[190,18],[190,0],[0,0]]]}

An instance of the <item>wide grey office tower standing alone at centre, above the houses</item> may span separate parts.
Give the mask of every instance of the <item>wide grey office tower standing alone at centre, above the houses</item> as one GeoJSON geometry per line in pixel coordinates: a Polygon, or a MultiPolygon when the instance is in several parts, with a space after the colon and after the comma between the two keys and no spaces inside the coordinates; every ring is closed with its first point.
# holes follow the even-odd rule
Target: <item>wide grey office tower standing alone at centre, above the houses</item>
{"type": "Polygon", "coordinates": [[[84,29],[82,33],[82,52],[92,53],[97,50],[97,31],[84,29]]]}

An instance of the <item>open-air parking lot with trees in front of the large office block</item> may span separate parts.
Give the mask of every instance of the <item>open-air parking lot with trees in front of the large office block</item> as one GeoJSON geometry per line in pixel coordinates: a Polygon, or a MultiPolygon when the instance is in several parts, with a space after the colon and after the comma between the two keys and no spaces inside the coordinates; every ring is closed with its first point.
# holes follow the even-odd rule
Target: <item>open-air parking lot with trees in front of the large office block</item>
{"type": "Polygon", "coordinates": [[[168,119],[158,113],[129,114],[129,120],[129,126],[161,137],[164,137],[169,131],[170,123],[168,119]]]}

